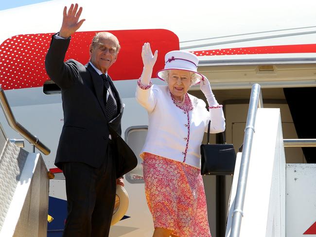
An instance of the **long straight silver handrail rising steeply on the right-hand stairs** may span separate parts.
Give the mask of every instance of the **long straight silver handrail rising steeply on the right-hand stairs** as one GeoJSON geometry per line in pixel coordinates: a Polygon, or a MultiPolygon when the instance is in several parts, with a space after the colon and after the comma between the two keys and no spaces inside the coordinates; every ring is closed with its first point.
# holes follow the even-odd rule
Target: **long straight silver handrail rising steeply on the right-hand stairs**
{"type": "Polygon", "coordinates": [[[244,202],[246,194],[246,184],[248,177],[250,153],[252,147],[253,135],[255,133],[255,121],[257,108],[263,108],[263,99],[259,84],[252,85],[250,102],[247,114],[243,153],[241,157],[240,171],[238,176],[237,192],[232,216],[230,237],[239,237],[242,217],[244,216],[244,202]]]}

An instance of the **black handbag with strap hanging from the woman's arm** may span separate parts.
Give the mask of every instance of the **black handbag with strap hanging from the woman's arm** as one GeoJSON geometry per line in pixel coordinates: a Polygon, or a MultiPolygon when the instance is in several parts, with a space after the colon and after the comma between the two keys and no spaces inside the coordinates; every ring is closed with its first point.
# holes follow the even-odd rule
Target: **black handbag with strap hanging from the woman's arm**
{"type": "Polygon", "coordinates": [[[210,125],[208,127],[208,143],[201,145],[201,174],[232,175],[235,169],[236,152],[232,144],[209,144],[210,125]]]}

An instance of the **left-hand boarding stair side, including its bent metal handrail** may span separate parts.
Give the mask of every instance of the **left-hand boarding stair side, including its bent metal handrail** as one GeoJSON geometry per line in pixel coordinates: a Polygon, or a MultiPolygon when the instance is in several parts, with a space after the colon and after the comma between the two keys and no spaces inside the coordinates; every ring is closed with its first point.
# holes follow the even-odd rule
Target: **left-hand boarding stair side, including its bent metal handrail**
{"type": "Polygon", "coordinates": [[[0,237],[44,237],[47,235],[49,177],[40,153],[49,154],[34,135],[14,118],[3,89],[0,103],[9,125],[34,145],[8,139],[0,124],[0,237]]]}

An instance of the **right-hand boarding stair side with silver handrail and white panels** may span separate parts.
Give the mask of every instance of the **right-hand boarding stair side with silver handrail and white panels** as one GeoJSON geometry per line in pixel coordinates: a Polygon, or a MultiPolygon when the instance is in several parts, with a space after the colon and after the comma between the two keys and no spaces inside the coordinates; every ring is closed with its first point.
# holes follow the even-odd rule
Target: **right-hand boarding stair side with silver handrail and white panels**
{"type": "Polygon", "coordinates": [[[316,164],[286,164],[284,153],[315,147],[316,139],[283,139],[280,109],[263,108],[260,91],[252,86],[225,236],[316,236],[316,164]]]}

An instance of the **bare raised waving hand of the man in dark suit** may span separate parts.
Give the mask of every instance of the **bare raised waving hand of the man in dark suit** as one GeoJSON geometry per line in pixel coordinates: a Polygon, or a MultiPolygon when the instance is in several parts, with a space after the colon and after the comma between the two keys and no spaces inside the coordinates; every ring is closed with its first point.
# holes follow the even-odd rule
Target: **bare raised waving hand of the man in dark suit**
{"type": "Polygon", "coordinates": [[[75,5],[71,4],[70,8],[67,12],[67,7],[64,7],[64,12],[63,12],[63,23],[61,25],[60,31],[59,31],[59,36],[63,37],[65,39],[69,38],[71,34],[75,33],[82,23],[86,19],[82,19],[78,22],[79,17],[82,12],[82,7],[79,8],[78,10],[78,4],[76,3],[75,5]]]}

